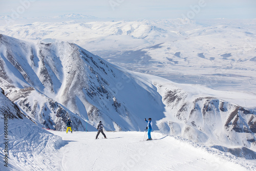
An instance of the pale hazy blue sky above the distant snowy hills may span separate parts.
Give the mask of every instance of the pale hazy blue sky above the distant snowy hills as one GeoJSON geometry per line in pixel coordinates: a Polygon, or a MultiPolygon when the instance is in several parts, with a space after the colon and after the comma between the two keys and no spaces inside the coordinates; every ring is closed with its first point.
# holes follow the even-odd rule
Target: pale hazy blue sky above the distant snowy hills
{"type": "Polygon", "coordinates": [[[0,15],[57,16],[68,13],[122,19],[187,17],[256,18],[255,0],[0,0],[0,15]]]}

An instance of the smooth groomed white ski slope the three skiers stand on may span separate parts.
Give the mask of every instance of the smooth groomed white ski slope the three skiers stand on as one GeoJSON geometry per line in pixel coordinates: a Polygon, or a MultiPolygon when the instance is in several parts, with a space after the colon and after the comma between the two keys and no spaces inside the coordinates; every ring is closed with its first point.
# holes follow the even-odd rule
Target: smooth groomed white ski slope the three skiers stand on
{"type": "Polygon", "coordinates": [[[68,144],[61,147],[53,163],[56,170],[253,170],[244,159],[201,146],[179,137],[152,133],[154,140],[143,141],[144,132],[56,132],[68,144]]]}

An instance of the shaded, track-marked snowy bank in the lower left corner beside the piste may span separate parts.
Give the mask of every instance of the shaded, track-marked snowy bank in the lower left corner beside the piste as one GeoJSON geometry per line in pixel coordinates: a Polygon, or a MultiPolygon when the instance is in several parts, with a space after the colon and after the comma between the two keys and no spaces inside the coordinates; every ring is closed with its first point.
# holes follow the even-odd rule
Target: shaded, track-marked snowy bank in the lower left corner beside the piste
{"type": "Polygon", "coordinates": [[[0,117],[0,170],[58,170],[52,158],[66,141],[35,124],[2,92],[0,117]]]}

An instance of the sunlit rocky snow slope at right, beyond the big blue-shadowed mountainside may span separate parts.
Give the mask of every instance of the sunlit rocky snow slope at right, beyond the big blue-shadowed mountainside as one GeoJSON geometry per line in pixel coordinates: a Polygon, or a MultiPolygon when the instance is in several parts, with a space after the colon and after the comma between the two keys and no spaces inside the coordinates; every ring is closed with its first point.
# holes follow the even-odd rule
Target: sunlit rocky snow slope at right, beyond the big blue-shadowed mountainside
{"type": "MultiPolygon", "coordinates": [[[[156,87],[163,97],[166,109],[166,117],[157,121],[162,133],[181,136],[223,151],[232,152],[231,148],[237,147],[238,144],[243,144],[247,152],[250,151],[248,148],[255,151],[255,107],[244,108],[230,102],[231,99],[227,101],[225,97],[231,98],[233,92],[214,92],[196,86],[192,89],[191,87],[177,89],[173,86],[156,84],[156,87]],[[198,96],[195,90],[205,94],[200,93],[201,95],[198,96]],[[209,92],[211,95],[208,94],[209,92]],[[213,94],[215,95],[212,96],[213,94]]],[[[245,94],[237,93],[233,98],[239,99],[243,95],[245,94]]],[[[248,153],[244,154],[241,153],[239,156],[246,157],[248,153]]],[[[255,152],[250,151],[249,154],[255,158],[255,152]]]]}

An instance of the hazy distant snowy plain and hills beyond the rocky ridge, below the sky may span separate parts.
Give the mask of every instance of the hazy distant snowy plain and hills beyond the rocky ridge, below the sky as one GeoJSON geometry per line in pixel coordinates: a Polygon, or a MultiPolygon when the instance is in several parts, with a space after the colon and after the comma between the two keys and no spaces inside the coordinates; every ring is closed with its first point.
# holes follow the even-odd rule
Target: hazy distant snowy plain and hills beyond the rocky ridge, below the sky
{"type": "Polygon", "coordinates": [[[132,71],[216,90],[256,93],[255,19],[102,22],[73,14],[52,20],[3,25],[0,33],[36,42],[74,42],[132,71]]]}

